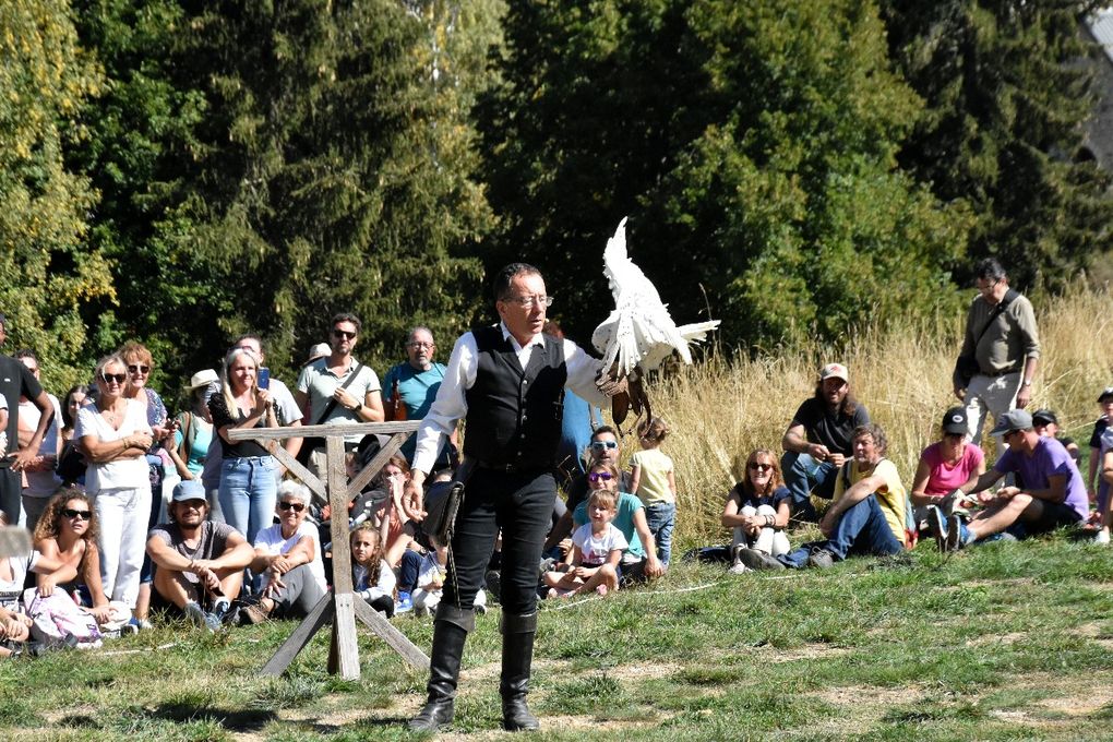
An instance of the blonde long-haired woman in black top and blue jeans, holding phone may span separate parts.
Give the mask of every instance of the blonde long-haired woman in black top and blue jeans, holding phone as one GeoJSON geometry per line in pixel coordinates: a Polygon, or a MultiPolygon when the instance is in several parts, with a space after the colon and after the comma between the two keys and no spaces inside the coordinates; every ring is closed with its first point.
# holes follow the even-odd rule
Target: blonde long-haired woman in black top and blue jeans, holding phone
{"type": "Polygon", "coordinates": [[[220,394],[209,400],[213,427],[220,436],[224,465],[220,469],[220,509],[236,531],[255,543],[256,534],[274,521],[279,466],[270,451],[255,441],[228,439],[228,432],[253,427],[278,427],[274,399],[256,379],[259,362],[243,348],[233,348],[224,359],[220,394]]]}

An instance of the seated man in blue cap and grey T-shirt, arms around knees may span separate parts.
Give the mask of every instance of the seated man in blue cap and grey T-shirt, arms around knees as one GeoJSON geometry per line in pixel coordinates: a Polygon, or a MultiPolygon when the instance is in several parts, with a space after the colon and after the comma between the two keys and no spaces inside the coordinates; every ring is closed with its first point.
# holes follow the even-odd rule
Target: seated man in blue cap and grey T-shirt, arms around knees
{"type": "Polygon", "coordinates": [[[230,525],[207,520],[208,499],[197,479],[174,487],[168,512],[170,523],[151,528],[147,540],[147,553],[158,567],[155,592],[164,607],[216,631],[232,617],[232,601],[255,552],[230,525]]]}

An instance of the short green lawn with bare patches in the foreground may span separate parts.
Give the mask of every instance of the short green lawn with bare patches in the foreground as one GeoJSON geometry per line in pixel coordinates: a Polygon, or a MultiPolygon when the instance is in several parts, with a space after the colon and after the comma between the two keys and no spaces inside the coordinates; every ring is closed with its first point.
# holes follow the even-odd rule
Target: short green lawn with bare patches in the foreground
{"type": "MultiPolygon", "coordinates": [[[[545,602],[531,702],[546,740],[1105,740],[1113,551],[1060,535],[945,558],[930,544],[828,572],[677,564],[653,590],[545,602]]],[[[427,620],[395,620],[427,647],[427,620]]],[[[464,656],[456,721],[499,726],[498,610],[464,656]]],[[[100,652],[0,663],[12,740],[411,739],[424,677],[362,632],[363,679],[255,671],[292,623],[165,626],[100,652]]]]}

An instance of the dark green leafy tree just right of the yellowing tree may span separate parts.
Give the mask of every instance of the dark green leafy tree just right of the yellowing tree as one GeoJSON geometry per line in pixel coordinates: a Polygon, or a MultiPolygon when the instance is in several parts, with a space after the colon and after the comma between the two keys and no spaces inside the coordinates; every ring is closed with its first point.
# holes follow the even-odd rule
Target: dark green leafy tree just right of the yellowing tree
{"type": "MultiPolygon", "coordinates": [[[[156,360],[152,383],[173,394],[183,374],[219,356],[200,325],[179,324],[211,301],[215,277],[161,239],[162,184],[188,150],[205,115],[204,97],[171,81],[173,39],[185,13],[176,0],[72,0],[78,34],[105,70],[102,93],[82,115],[88,136],[69,150],[73,167],[100,194],[88,244],[108,260],[115,293],[82,313],[96,353],[138,339],[156,360]],[[203,355],[203,353],[205,355],[203,355]]],[[[176,225],[185,229],[181,222],[176,225]]]]}

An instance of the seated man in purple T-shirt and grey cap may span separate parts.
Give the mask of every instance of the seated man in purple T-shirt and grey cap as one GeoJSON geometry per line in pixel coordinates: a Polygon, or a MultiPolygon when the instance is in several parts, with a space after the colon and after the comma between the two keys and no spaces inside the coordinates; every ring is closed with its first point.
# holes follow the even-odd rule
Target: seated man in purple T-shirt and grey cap
{"type": "Polygon", "coordinates": [[[969,525],[932,509],[928,527],[940,551],[963,548],[1006,528],[1024,537],[1085,521],[1090,503],[1078,467],[1062,443],[1035,432],[1032,415],[1023,409],[1004,413],[991,435],[999,435],[1008,449],[971,488],[971,494],[982,493],[978,501],[985,509],[969,525]],[[1024,488],[986,492],[1006,474],[1016,474],[1024,488]]]}

